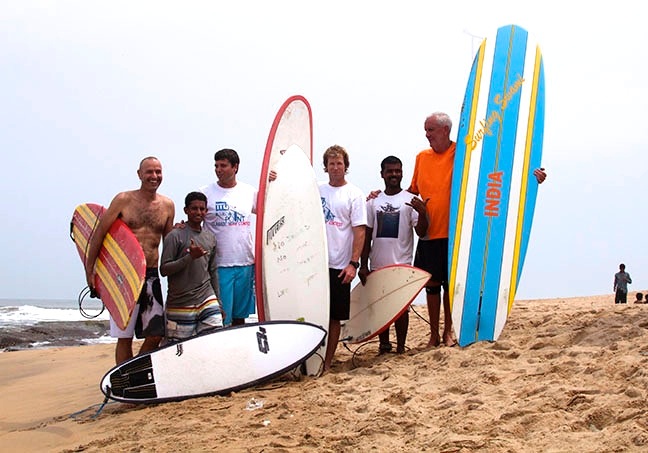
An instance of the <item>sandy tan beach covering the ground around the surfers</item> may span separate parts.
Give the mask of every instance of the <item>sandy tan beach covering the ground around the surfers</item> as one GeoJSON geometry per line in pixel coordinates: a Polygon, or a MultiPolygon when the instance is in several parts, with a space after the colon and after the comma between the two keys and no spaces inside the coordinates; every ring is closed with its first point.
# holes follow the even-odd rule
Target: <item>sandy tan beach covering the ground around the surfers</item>
{"type": "Polygon", "coordinates": [[[497,342],[434,349],[416,311],[402,355],[340,345],[319,378],[98,415],[113,345],[2,353],[0,451],[648,450],[648,305],[516,301],[497,342]]]}

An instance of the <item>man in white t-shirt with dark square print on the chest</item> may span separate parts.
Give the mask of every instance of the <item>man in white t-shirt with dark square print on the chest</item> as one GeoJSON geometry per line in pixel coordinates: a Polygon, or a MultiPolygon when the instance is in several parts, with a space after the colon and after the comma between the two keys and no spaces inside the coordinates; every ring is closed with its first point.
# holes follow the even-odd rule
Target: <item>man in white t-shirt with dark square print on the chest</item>
{"type": "MultiPolygon", "coordinates": [[[[367,201],[367,227],[365,243],[360,260],[358,277],[364,285],[374,270],[392,264],[412,264],[414,255],[414,231],[425,236],[428,219],[425,202],[401,188],[403,163],[398,157],[388,156],[380,163],[380,177],[385,190],[367,201]]],[[[391,352],[389,329],[381,332],[379,354],[391,352]]],[[[396,353],[405,352],[409,309],[395,322],[396,353]]]]}

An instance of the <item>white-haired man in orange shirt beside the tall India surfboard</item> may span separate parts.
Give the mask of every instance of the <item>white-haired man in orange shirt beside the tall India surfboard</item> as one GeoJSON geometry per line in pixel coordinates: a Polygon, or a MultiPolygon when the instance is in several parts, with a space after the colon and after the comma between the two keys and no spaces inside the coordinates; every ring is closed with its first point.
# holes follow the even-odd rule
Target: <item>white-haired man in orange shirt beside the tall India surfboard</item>
{"type": "MultiPolygon", "coordinates": [[[[450,222],[450,195],[456,143],[450,140],[452,120],[446,113],[435,112],[425,119],[425,136],[430,148],[416,156],[414,174],[409,192],[428,200],[429,226],[427,234],[418,241],[414,266],[430,274],[425,288],[430,317],[428,347],[441,344],[439,318],[441,315],[441,288],[443,288],[443,342],[446,346],[457,344],[452,333],[452,314],[448,294],[448,228],[450,222]]],[[[547,174],[543,168],[533,171],[538,183],[547,174]]],[[[369,195],[374,197],[376,191],[369,195]]]]}

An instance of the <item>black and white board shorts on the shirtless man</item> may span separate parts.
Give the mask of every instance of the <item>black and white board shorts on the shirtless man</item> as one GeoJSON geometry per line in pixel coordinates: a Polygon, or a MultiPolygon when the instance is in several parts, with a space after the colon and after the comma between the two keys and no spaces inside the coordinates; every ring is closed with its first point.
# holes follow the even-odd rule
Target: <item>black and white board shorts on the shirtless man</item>
{"type": "Polygon", "coordinates": [[[110,318],[110,336],[113,338],[163,337],[164,336],[164,302],[162,286],[158,271],[154,267],[146,268],[146,279],[131,319],[125,329],[120,329],[110,318]]]}

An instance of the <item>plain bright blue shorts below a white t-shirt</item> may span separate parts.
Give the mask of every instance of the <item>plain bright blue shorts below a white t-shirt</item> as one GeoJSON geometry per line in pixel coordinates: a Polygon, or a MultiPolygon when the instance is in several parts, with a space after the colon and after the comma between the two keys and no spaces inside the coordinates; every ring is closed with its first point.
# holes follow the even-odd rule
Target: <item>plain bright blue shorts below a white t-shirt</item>
{"type": "Polygon", "coordinates": [[[226,326],[231,325],[233,319],[245,319],[256,312],[253,264],[219,267],[218,286],[226,326]]]}

